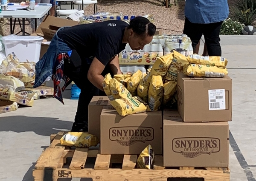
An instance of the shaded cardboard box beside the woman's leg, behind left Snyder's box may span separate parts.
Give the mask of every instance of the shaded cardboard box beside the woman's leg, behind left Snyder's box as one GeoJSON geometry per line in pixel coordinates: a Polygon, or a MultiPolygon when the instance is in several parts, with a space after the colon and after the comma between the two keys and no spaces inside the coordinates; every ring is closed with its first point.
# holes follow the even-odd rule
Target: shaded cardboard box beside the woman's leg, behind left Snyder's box
{"type": "Polygon", "coordinates": [[[100,139],[100,114],[104,106],[110,105],[107,96],[94,96],[88,105],[88,133],[100,139]]]}

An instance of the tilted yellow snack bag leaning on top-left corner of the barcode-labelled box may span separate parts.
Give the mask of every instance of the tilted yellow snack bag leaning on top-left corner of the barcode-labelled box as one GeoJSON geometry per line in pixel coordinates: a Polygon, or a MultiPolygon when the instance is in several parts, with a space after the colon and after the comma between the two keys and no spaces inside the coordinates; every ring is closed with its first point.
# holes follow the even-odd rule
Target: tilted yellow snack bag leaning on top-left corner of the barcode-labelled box
{"type": "Polygon", "coordinates": [[[189,66],[189,61],[187,60],[187,57],[174,50],[172,63],[167,71],[167,74],[163,83],[166,83],[169,81],[177,81],[177,73],[183,72],[184,70],[183,68],[186,68],[188,66],[189,66]]]}

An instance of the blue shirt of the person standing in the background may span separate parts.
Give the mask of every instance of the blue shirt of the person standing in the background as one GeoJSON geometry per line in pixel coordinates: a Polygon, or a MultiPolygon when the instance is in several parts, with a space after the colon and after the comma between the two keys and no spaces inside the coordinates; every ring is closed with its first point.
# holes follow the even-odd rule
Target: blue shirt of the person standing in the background
{"type": "Polygon", "coordinates": [[[186,0],[185,17],[191,23],[216,23],[227,19],[227,0],[186,0]]]}

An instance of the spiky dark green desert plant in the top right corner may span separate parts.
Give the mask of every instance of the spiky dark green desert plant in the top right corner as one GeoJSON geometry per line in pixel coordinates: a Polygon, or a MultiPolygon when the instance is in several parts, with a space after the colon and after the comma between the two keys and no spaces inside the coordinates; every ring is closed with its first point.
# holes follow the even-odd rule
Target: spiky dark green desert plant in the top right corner
{"type": "Polygon", "coordinates": [[[236,0],[230,12],[234,20],[253,25],[256,22],[256,0],[236,0]]]}

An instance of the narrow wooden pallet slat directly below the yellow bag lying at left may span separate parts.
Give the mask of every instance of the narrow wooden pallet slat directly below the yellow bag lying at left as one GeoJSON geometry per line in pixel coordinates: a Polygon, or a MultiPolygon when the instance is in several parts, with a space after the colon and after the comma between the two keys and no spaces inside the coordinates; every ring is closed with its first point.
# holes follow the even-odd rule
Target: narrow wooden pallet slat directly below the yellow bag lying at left
{"type": "Polygon", "coordinates": [[[71,170],[83,169],[87,159],[87,155],[88,148],[76,148],[69,168],[71,170]]]}

